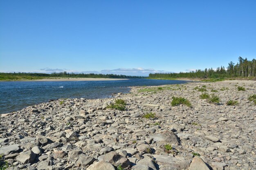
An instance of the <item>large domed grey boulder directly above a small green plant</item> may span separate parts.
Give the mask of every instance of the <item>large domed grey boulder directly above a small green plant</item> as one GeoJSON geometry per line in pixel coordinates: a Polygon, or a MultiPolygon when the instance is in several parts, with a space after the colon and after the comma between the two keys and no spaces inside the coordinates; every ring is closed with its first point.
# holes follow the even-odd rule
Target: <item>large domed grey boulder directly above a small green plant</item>
{"type": "Polygon", "coordinates": [[[167,144],[174,144],[180,145],[180,139],[173,131],[163,130],[158,133],[154,133],[150,137],[157,143],[167,143],[167,144]]]}

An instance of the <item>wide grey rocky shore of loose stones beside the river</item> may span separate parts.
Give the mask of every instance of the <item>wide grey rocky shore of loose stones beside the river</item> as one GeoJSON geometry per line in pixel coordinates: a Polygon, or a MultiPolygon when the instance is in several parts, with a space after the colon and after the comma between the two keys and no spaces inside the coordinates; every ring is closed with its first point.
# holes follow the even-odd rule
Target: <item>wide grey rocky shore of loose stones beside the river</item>
{"type": "Polygon", "coordinates": [[[0,165],[8,163],[7,170],[255,170],[256,105],[248,100],[253,94],[255,81],[195,82],[30,106],[1,116],[0,165]],[[203,93],[218,96],[219,103],[201,99],[203,93]],[[173,96],[191,107],[172,106],[173,96]],[[124,111],[109,108],[117,99],[126,102],[124,111]]]}

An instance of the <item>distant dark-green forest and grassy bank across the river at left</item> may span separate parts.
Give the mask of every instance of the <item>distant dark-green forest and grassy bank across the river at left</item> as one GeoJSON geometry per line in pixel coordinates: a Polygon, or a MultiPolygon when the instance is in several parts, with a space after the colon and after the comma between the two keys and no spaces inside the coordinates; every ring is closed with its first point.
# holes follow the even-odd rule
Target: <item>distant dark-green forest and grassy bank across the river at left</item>
{"type": "Polygon", "coordinates": [[[0,73],[0,80],[21,80],[21,79],[41,79],[41,78],[57,78],[57,77],[70,77],[70,78],[145,78],[142,76],[126,76],[117,74],[84,74],[84,73],[68,73],[68,72],[53,72],[51,74],[45,73],[25,73],[25,72],[14,72],[14,73],[0,73]]]}

